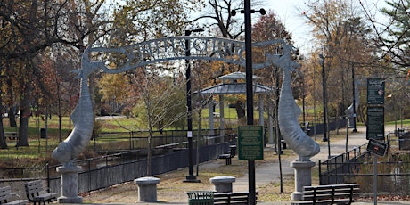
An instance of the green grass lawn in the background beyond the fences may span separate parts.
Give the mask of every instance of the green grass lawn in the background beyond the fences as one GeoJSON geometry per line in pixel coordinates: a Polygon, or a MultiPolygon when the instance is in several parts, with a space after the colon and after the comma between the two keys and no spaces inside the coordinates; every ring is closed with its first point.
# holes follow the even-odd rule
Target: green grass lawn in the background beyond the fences
{"type": "MultiPolygon", "coordinates": [[[[218,111],[218,110],[217,110],[218,111]]],[[[258,116],[258,111],[256,111],[256,116],[258,116]]],[[[204,109],[201,112],[202,118],[206,119],[208,118],[208,110],[204,109]]],[[[236,118],[236,111],[234,108],[225,108],[225,117],[228,118],[236,118]]],[[[8,127],[9,125],[8,119],[3,119],[4,125],[4,131],[5,132],[17,132],[18,127],[8,127]]],[[[19,121],[18,121],[19,123],[19,121]]],[[[5,150],[0,150],[0,158],[2,160],[15,160],[15,159],[37,159],[37,158],[49,158],[51,152],[53,149],[57,146],[57,144],[60,142],[59,139],[59,119],[56,116],[53,116],[52,119],[48,119],[48,129],[47,129],[47,140],[45,139],[39,139],[40,131],[39,128],[44,128],[45,127],[45,120],[42,120],[41,118],[30,118],[29,119],[29,146],[25,147],[19,147],[16,149],[15,145],[15,140],[10,140],[6,139],[9,149],[5,150]]],[[[129,131],[130,130],[136,130],[135,128],[135,119],[132,118],[119,118],[119,119],[104,119],[104,120],[99,120],[99,123],[101,123],[102,126],[102,133],[123,133],[123,134],[118,134],[118,135],[111,135],[110,137],[107,138],[99,138],[97,140],[96,145],[100,147],[104,147],[103,143],[127,143],[129,137],[129,131]],[[118,141],[118,142],[117,142],[118,141]]],[[[207,120],[202,120],[202,123],[208,123],[207,120]]],[[[401,121],[396,122],[398,126],[401,126],[401,121]]],[[[196,123],[194,122],[194,128],[196,127],[196,123]]],[[[387,122],[386,125],[394,125],[395,122],[387,122]]],[[[358,123],[358,125],[360,125],[358,123]]],[[[362,124],[363,126],[363,124],[362,124]]],[[[403,120],[403,127],[409,127],[410,126],[410,119],[403,120]]],[[[71,122],[70,124],[70,118],[69,117],[63,117],[61,119],[61,140],[64,140],[67,138],[68,135],[70,135],[70,130],[72,129],[73,124],[71,122]]],[[[160,135],[159,133],[155,133],[155,135],[160,135]]],[[[182,134],[184,135],[184,134],[182,134]]],[[[142,132],[135,132],[134,136],[147,136],[146,133],[142,132]]],[[[340,135],[335,135],[332,134],[332,139],[336,138],[344,138],[345,135],[343,132],[340,133],[340,135]]],[[[91,142],[90,147],[94,146],[94,143],[91,142]]],[[[128,147],[128,145],[125,145],[125,147],[128,147]]],[[[92,150],[92,149],[90,149],[92,150]]]]}

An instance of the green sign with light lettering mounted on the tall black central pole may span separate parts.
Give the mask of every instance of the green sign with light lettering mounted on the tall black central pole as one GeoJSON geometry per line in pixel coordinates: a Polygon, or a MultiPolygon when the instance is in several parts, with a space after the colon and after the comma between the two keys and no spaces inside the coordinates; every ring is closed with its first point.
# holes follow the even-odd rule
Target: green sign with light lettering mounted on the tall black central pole
{"type": "Polygon", "coordinates": [[[239,160],[263,160],[263,127],[238,127],[239,160]]]}

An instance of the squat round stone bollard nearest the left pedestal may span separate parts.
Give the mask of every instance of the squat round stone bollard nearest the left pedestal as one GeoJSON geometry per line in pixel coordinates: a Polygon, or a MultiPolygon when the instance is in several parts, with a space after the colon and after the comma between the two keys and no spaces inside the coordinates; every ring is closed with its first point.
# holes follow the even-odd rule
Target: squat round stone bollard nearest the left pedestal
{"type": "Polygon", "coordinates": [[[158,183],[160,179],[151,176],[135,179],[134,184],[138,186],[138,201],[156,202],[158,183]]]}

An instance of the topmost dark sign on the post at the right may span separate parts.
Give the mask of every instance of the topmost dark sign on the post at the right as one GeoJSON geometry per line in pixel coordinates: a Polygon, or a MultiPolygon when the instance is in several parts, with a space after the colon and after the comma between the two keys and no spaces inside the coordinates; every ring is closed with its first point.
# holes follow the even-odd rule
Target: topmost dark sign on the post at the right
{"type": "Polygon", "coordinates": [[[384,78],[367,78],[367,104],[384,104],[384,78]]]}

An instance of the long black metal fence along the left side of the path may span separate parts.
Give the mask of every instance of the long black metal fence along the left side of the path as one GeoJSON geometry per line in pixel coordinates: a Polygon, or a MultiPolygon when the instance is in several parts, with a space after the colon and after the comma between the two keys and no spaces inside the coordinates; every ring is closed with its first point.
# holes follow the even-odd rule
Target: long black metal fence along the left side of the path
{"type": "MultiPolygon", "coordinates": [[[[185,138],[186,139],[186,138],[185,138]]],[[[196,143],[193,141],[193,143],[196,143]]],[[[229,145],[236,143],[236,135],[224,135],[202,138],[199,146],[199,163],[215,160],[219,154],[228,152],[229,145]]],[[[182,143],[185,144],[186,143],[182,143]]],[[[99,158],[78,160],[76,165],[83,171],[78,174],[78,191],[86,193],[132,181],[147,176],[147,150],[121,152],[99,158]]],[[[188,149],[181,149],[175,144],[160,146],[153,150],[152,175],[159,175],[188,166],[188,149]]],[[[197,150],[193,148],[193,159],[197,150]]],[[[61,193],[61,177],[56,172],[59,166],[38,168],[0,168],[0,186],[10,185],[14,191],[23,192],[24,183],[34,179],[43,179],[52,192],[61,193]]],[[[25,197],[24,197],[25,198],[25,197]]]]}

